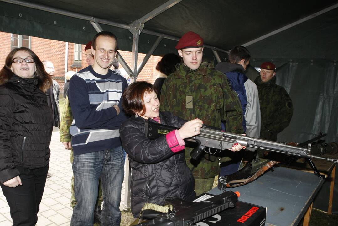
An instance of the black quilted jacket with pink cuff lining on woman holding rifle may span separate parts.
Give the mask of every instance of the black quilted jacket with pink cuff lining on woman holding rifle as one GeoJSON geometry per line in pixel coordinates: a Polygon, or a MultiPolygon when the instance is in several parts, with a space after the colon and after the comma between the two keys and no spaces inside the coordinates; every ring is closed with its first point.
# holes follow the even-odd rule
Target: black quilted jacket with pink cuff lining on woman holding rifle
{"type": "MultiPolygon", "coordinates": [[[[161,124],[181,127],[186,121],[170,112],[160,112],[161,124]]],[[[149,119],[153,121],[152,119],[149,119]]],[[[134,115],[120,129],[122,145],[128,154],[131,171],[131,212],[138,217],[145,203],[163,205],[163,199],[196,197],[195,180],[184,151],[171,151],[166,136],[149,140],[144,135],[145,119],[134,115]]],[[[155,122],[155,121],[153,121],[155,122]]]]}

